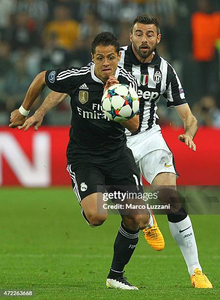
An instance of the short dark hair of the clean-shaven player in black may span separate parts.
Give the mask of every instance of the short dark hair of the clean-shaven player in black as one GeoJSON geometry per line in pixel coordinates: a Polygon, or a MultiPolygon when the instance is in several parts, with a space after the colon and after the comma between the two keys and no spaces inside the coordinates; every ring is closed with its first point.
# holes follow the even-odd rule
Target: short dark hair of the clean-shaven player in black
{"type": "Polygon", "coordinates": [[[102,31],[97,34],[97,36],[94,38],[92,42],[92,53],[94,54],[96,52],[96,47],[102,45],[102,46],[109,46],[112,45],[115,47],[117,53],[119,54],[120,51],[120,43],[116,35],[109,31],[102,31]]]}

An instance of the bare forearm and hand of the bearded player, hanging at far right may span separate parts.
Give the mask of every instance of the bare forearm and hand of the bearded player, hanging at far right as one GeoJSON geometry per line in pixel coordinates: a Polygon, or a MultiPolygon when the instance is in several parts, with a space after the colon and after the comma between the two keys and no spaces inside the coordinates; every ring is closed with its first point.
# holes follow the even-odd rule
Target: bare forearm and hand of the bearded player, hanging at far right
{"type": "Polygon", "coordinates": [[[192,114],[189,105],[186,103],[181,106],[175,107],[178,115],[180,116],[181,120],[183,121],[185,133],[180,134],[178,139],[185,143],[193,151],[196,151],[196,145],[193,141],[196,132],[197,132],[197,120],[196,117],[192,114]]]}

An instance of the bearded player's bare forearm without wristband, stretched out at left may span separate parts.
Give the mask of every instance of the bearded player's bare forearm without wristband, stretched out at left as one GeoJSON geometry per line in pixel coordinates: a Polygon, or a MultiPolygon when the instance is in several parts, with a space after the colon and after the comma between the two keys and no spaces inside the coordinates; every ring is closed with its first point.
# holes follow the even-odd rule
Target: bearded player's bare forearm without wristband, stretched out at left
{"type": "Polygon", "coordinates": [[[18,126],[19,129],[23,129],[26,131],[29,127],[32,125],[34,126],[34,130],[38,130],[40,125],[43,122],[44,116],[49,112],[51,108],[59,104],[61,101],[66,99],[68,94],[62,94],[57,92],[50,92],[48,96],[45,98],[44,102],[41,104],[41,106],[36,110],[34,115],[30,118],[28,118],[24,125],[18,126]]]}

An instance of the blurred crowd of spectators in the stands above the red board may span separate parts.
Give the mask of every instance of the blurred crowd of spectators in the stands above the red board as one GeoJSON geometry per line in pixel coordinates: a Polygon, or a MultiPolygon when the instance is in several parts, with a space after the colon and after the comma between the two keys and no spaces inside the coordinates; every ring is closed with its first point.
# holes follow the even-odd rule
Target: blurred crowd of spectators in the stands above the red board
{"type": "MultiPolygon", "coordinates": [[[[158,51],[179,75],[199,124],[220,127],[219,0],[0,0],[0,125],[8,124],[37,73],[86,65],[100,31],[113,31],[121,46],[129,44],[131,23],[143,12],[157,16],[158,51]]],[[[181,125],[165,107],[160,100],[161,125],[181,125]]],[[[70,114],[67,100],[44,124],[69,125],[70,114]]]]}

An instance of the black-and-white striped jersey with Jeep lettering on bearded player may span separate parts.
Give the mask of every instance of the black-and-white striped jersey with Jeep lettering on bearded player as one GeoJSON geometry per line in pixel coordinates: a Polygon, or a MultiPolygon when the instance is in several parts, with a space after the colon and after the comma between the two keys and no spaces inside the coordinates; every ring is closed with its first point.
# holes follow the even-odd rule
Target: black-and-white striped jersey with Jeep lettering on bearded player
{"type": "Polygon", "coordinates": [[[167,100],[167,107],[175,107],[187,103],[178,76],[172,66],[155,50],[150,63],[140,63],[131,45],[121,47],[119,66],[129,71],[138,80],[140,98],[140,125],[136,132],[125,131],[127,136],[135,135],[156,126],[157,102],[161,95],[167,100]]]}

